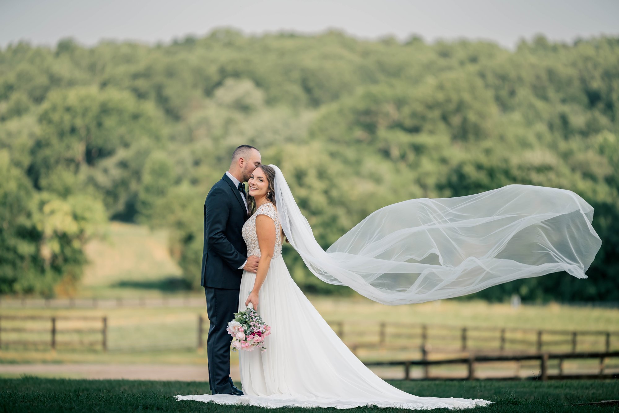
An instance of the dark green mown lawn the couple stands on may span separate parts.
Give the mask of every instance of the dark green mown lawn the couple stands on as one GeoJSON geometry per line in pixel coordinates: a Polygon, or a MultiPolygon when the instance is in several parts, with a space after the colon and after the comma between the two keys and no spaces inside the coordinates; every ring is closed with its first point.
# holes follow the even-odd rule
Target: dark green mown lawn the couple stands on
{"type": "MultiPolygon", "coordinates": [[[[426,381],[391,382],[418,396],[482,398],[495,402],[484,412],[615,412],[619,406],[574,406],[619,399],[618,380],[578,381],[426,381]]],[[[262,412],[259,407],[230,407],[176,401],[175,394],[208,393],[208,383],[180,381],[0,379],[0,409],[5,412],[262,412]]],[[[338,409],[279,409],[281,412],[342,412],[338,409]]],[[[360,407],[350,412],[404,412],[360,407]]],[[[447,411],[437,409],[435,411],[447,411]]]]}

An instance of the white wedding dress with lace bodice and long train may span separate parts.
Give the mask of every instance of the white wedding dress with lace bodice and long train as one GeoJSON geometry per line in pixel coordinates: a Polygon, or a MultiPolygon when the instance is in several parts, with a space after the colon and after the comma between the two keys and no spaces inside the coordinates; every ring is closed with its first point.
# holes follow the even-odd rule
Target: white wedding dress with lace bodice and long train
{"type": "MultiPolygon", "coordinates": [[[[260,256],[256,216],[270,216],[275,223],[275,252],[259,293],[258,313],[271,326],[266,352],[239,354],[245,396],[201,394],[176,396],[219,404],[260,407],[399,407],[402,409],[467,408],[484,406],[482,399],[418,397],[391,386],[366,367],[339,339],[316,311],[282,259],[282,239],[277,211],[262,204],[243,226],[248,255],[260,256]]],[[[256,274],[243,272],[239,311],[252,290],[256,274]]]]}

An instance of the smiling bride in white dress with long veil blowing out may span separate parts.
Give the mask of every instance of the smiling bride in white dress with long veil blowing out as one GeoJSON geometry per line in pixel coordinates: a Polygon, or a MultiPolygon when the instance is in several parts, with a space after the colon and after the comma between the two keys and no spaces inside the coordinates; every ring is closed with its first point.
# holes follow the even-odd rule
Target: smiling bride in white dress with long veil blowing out
{"type": "Polygon", "coordinates": [[[601,241],[593,208],[575,193],[532,185],[467,197],[389,205],[324,251],[277,166],[249,179],[253,215],[243,226],[258,272],[243,272],[239,311],[251,303],[272,327],[266,352],[241,351],[243,396],[176,396],[260,407],[461,409],[490,401],[420,397],[376,376],[332,331],[290,277],[282,238],[327,283],[347,285],[384,304],[421,303],[565,270],[577,278],[601,241]]]}

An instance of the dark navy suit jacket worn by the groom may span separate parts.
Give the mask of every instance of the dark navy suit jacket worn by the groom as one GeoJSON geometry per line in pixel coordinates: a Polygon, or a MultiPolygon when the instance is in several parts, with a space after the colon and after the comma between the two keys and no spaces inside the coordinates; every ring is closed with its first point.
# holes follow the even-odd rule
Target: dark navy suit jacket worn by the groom
{"type": "Polygon", "coordinates": [[[223,175],[204,202],[204,249],[202,286],[239,290],[247,259],[247,247],[241,229],[247,210],[238,187],[223,175]]]}

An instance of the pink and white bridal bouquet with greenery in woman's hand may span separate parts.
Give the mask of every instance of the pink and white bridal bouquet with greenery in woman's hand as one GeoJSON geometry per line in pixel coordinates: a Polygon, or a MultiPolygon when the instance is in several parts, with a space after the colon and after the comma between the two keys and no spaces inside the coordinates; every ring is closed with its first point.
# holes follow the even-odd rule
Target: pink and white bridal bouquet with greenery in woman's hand
{"type": "Polygon", "coordinates": [[[249,303],[245,311],[235,313],[235,318],[228,321],[228,334],[234,337],[232,339],[232,351],[238,349],[251,352],[253,349],[261,349],[261,352],[266,352],[264,347],[264,337],[271,334],[271,326],[267,326],[262,321],[262,317],[258,311],[254,310],[249,303]]]}

